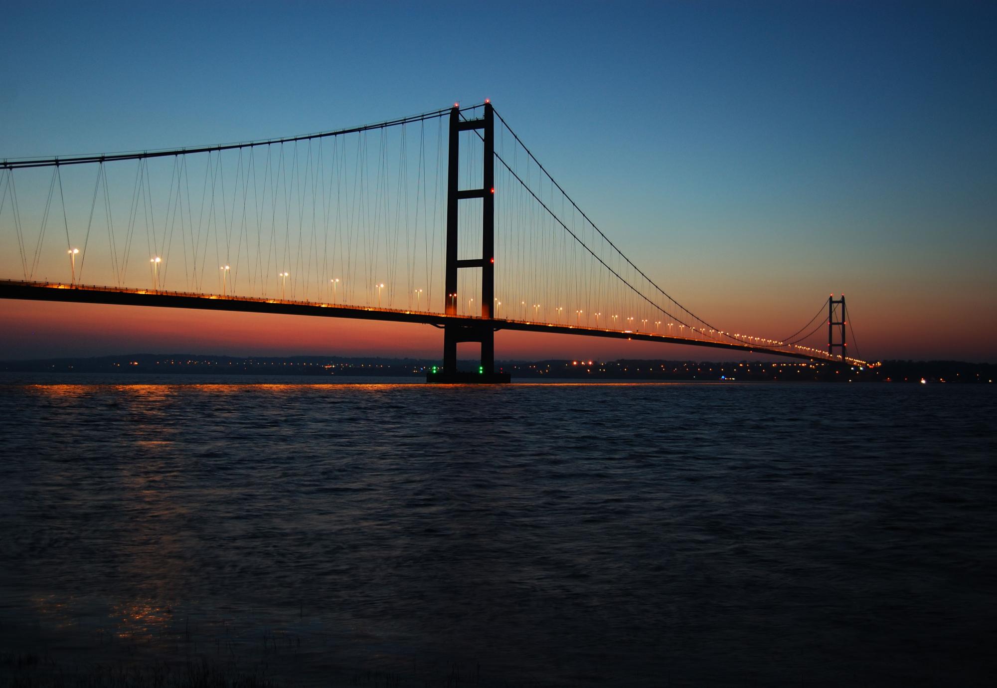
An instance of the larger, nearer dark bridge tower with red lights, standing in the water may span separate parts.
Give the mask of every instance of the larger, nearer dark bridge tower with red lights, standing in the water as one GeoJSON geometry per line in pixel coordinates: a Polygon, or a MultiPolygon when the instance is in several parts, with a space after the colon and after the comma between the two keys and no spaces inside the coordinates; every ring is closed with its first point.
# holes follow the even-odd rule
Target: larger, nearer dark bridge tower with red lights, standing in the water
{"type": "Polygon", "coordinates": [[[495,303],[495,113],[491,103],[485,104],[484,115],[477,120],[462,120],[461,109],[455,105],[450,111],[450,161],[447,180],[447,259],[446,259],[446,314],[457,315],[460,296],[457,291],[457,272],[461,268],[482,268],[482,320],[472,325],[447,323],[444,325],[443,370],[427,373],[429,382],[508,382],[508,373],[495,372],[496,325],[492,308],[495,303]],[[481,130],[483,146],[481,188],[461,188],[459,183],[461,162],[461,132],[481,130]],[[482,256],[458,258],[459,205],[467,198],[482,199],[482,256]],[[482,362],[477,371],[461,372],[457,369],[457,345],[460,342],[479,342],[482,345],[482,362]]]}

